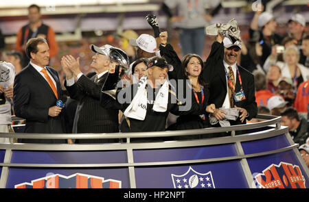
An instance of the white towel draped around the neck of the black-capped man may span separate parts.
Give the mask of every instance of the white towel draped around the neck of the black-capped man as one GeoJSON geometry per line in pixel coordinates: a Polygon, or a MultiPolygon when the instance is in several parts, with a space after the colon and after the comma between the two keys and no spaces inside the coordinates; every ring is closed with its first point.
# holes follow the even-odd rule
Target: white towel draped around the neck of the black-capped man
{"type": "MultiPolygon", "coordinates": [[[[143,121],[147,112],[147,77],[141,77],[139,80],[139,86],[137,87],[137,93],[133,98],[128,108],[124,111],[124,116],[129,118],[135,118],[137,120],[143,121]]],[[[153,110],[155,112],[166,112],[168,109],[168,81],[165,80],[163,86],[159,89],[155,103],[153,105],[153,110]]]]}

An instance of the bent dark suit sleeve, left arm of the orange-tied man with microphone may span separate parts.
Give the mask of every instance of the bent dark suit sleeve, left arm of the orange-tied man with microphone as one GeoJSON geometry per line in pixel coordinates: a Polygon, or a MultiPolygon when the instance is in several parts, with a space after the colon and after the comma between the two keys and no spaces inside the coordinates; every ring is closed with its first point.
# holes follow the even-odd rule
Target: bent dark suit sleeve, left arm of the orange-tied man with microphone
{"type": "Polygon", "coordinates": [[[30,105],[30,89],[23,75],[16,75],[14,79],[14,112],[16,116],[25,118],[30,121],[45,122],[48,119],[49,108],[37,108],[30,105]]]}

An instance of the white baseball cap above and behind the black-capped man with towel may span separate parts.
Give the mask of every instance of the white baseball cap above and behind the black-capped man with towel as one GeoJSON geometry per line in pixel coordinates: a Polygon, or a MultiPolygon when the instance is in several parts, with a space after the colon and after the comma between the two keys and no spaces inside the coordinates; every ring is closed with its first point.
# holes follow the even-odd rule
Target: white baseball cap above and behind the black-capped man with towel
{"type": "Polygon", "coordinates": [[[129,44],[134,47],[139,47],[148,53],[155,53],[157,49],[155,37],[149,34],[141,34],[137,39],[131,38],[129,44]]]}

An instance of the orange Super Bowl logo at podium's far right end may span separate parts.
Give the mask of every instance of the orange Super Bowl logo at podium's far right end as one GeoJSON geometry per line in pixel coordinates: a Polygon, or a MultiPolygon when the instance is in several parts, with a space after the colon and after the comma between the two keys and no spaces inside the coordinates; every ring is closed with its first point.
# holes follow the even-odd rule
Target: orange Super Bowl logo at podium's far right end
{"type": "Polygon", "coordinates": [[[255,175],[258,188],[306,188],[306,180],[299,166],[280,162],[271,164],[262,173],[255,175]]]}

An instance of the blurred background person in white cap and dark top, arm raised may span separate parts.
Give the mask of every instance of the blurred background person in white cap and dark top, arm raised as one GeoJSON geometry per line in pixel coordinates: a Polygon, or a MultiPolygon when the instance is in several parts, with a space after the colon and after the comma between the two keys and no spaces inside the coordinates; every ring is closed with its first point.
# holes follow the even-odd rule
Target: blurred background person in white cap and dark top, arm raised
{"type": "Polygon", "coordinates": [[[282,42],[282,36],[276,34],[277,22],[271,12],[257,10],[250,24],[249,37],[251,40],[258,40],[262,46],[262,56],[260,65],[263,66],[265,60],[271,55],[271,47],[282,42]]]}

